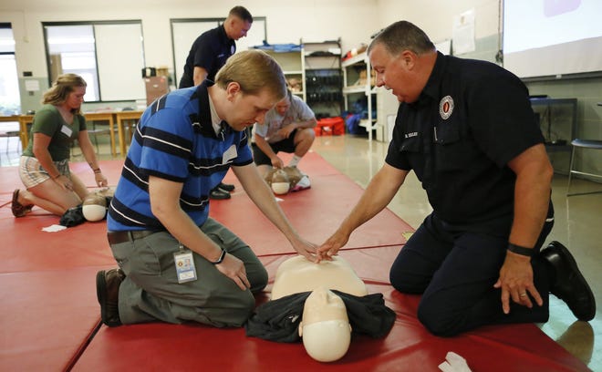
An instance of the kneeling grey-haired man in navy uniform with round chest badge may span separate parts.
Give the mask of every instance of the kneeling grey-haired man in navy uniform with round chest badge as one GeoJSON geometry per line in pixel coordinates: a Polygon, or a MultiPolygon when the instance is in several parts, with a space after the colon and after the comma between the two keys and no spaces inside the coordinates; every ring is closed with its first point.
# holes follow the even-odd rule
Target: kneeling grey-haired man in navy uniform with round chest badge
{"type": "Polygon", "coordinates": [[[545,322],[548,294],[579,320],[594,296],[552,229],[553,168],[519,78],[484,61],[443,56],[417,26],[388,26],[368,47],[377,85],[400,101],[385,164],[337,231],[328,259],[382,211],[414,171],[433,212],[400,250],[390,282],[421,294],[420,322],[438,336],[481,325],[545,322]]]}

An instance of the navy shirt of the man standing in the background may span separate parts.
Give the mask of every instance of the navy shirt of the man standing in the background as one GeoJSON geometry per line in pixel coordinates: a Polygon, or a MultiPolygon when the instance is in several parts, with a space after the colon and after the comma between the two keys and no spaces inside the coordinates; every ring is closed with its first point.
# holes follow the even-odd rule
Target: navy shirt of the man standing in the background
{"type": "Polygon", "coordinates": [[[207,71],[207,78],[215,80],[217,71],[225,65],[226,60],[236,52],[236,43],[225,33],[223,25],[205,31],[192,43],[191,51],[186,57],[184,73],[179,88],[194,86],[194,67],[202,67],[207,71]]]}

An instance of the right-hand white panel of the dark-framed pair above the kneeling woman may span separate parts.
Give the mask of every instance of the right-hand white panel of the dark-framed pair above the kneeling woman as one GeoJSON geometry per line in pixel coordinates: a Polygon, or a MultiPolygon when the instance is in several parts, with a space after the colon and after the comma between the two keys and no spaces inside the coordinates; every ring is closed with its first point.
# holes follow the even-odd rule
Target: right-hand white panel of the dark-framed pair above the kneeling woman
{"type": "Polygon", "coordinates": [[[132,24],[94,25],[103,101],[145,98],[142,27],[132,24]]]}

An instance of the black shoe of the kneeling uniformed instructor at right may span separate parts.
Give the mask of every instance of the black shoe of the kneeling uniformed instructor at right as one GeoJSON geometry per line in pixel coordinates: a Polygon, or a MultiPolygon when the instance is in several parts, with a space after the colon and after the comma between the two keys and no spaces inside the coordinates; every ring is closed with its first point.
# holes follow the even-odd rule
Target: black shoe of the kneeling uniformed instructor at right
{"type": "Polygon", "coordinates": [[[596,299],[573,255],[558,242],[550,243],[541,255],[555,270],[555,283],[550,287],[550,293],[563,300],[577,319],[592,320],[596,315],[596,299]]]}

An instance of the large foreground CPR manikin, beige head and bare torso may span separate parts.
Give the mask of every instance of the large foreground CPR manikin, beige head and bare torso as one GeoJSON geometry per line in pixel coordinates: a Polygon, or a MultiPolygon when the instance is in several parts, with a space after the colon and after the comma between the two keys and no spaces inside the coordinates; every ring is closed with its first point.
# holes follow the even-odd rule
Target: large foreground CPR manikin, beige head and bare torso
{"type": "Polygon", "coordinates": [[[307,354],[320,362],[332,362],[344,356],[351,340],[347,309],[343,300],[330,289],[364,296],[364,284],[343,258],[312,263],[296,256],[276,271],[272,300],[289,294],[312,291],[306,299],[299,336],[307,354]]]}

